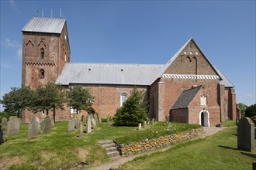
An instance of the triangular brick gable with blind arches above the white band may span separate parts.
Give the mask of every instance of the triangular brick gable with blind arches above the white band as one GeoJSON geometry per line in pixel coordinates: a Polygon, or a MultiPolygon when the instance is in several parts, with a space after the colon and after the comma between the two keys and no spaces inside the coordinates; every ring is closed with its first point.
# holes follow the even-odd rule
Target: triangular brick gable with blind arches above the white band
{"type": "Polygon", "coordinates": [[[189,39],[167,63],[164,74],[219,76],[193,39],[189,39]]]}

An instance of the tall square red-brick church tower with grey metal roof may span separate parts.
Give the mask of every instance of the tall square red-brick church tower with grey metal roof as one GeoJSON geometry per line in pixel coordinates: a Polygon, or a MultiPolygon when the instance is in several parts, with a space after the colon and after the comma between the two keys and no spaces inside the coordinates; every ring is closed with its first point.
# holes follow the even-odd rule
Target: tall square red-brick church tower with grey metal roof
{"type": "Polygon", "coordinates": [[[22,87],[55,82],[70,53],[65,19],[31,19],[22,29],[22,87]]]}

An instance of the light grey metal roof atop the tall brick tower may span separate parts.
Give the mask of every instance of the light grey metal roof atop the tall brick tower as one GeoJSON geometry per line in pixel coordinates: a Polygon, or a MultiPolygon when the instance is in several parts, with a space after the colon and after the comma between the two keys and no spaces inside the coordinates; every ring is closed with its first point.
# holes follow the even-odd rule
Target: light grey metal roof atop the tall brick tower
{"type": "Polygon", "coordinates": [[[24,26],[22,32],[47,32],[61,34],[66,20],[33,17],[24,26]]]}

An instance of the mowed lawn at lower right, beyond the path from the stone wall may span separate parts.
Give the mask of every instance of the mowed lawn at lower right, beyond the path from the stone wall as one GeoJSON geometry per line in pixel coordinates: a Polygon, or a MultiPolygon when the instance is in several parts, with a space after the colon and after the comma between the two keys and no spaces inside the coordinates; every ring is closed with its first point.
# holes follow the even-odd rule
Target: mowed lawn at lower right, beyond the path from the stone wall
{"type": "MultiPolygon", "coordinates": [[[[237,127],[230,126],[213,136],[188,141],[168,151],[145,155],[119,169],[252,169],[256,151],[237,150],[237,127]]],[[[256,147],[256,146],[255,146],[256,147]]]]}

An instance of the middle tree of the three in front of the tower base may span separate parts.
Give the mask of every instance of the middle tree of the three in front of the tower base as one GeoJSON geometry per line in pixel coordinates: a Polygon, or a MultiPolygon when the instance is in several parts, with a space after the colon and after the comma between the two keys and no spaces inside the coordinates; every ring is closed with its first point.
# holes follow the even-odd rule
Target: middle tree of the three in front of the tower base
{"type": "Polygon", "coordinates": [[[34,101],[30,104],[29,109],[32,110],[33,113],[39,111],[46,112],[47,116],[51,110],[54,113],[55,122],[56,110],[64,110],[65,97],[63,87],[54,83],[47,83],[45,87],[37,88],[34,101]]]}

